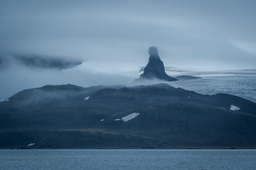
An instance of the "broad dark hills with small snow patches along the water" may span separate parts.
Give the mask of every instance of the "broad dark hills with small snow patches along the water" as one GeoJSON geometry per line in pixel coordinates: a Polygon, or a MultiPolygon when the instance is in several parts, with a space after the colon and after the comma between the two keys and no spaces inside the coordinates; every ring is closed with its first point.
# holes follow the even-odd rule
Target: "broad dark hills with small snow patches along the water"
{"type": "Polygon", "coordinates": [[[256,146],[255,103],[165,83],[27,89],[0,103],[0,117],[0,148],[256,146]]]}

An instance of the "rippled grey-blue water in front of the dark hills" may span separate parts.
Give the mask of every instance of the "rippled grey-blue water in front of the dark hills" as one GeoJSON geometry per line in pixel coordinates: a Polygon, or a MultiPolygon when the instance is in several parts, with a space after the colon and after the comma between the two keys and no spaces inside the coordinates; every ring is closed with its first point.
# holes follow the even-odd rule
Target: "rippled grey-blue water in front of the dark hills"
{"type": "Polygon", "coordinates": [[[256,150],[0,150],[0,169],[256,169],[256,150]]]}

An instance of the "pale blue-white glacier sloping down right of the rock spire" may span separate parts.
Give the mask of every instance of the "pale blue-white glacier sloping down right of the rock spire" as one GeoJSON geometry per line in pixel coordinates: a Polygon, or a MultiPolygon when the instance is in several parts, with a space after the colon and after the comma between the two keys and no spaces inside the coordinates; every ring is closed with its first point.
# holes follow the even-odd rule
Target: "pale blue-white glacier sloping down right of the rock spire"
{"type": "Polygon", "coordinates": [[[256,103],[256,69],[238,71],[181,72],[182,75],[202,79],[166,82],[175,88],[195,91],[203,95],[218,93],[239,96],[256,103]]]}

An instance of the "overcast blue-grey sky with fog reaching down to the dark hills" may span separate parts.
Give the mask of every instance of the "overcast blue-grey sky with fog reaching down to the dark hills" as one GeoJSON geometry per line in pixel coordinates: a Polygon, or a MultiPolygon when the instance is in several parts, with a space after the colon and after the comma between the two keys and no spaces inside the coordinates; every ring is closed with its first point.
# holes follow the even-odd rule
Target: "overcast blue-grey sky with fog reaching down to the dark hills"
{"type": "Polygon", "coordinates": [[[165,66],[256,69],[255,8],[256,1],[235,0],[2,0],[0,99],[46,84],[127,84],[146,66],[150,46],[165,66]],[[85,62],[58,70],[20,56],[85,62]]]}

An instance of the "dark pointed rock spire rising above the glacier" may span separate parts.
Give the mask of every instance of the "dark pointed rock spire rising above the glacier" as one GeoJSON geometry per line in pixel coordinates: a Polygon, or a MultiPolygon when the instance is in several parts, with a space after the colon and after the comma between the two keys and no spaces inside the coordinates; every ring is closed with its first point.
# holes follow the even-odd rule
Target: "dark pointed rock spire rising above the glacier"
{"type": "Polygon", "coordinates": [[[139,82],[143,80],[153,80],[159,79],[163,81],[177,81],[177,79],[170,77],[165,73],[164,63],[161,61],[158,50],[156,47],[149,47],[148,50],[149,60],[148,64],[144,69],[144,73],[140,75],[139,79],[134,80],[134,82],[139,82]]]}

